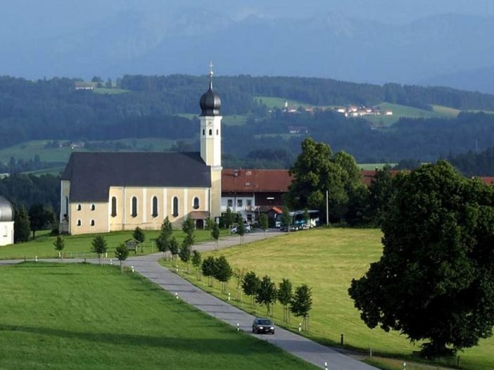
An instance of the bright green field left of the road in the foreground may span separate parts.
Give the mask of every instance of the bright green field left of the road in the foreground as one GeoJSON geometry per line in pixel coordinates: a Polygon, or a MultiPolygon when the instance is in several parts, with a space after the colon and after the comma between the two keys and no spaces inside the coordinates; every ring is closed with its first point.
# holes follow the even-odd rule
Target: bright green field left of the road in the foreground
{"type": "Polygon", "coordinates": [[[0,267],[1,369],[315,369],[137,274],[0,267]]]}

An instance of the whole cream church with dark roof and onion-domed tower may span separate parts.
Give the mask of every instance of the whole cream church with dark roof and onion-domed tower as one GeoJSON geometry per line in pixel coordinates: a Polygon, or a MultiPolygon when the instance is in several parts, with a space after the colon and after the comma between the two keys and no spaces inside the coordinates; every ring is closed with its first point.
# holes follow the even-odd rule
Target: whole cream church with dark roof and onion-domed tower
{"type": "Polygon", "coordinates": [[[202,229],[221,215],[221,99],[200,100],[198,153],[84,153],[70,155],[61,177],[59,230],[72,235],[160,229],[165,217],[202,229]]]}

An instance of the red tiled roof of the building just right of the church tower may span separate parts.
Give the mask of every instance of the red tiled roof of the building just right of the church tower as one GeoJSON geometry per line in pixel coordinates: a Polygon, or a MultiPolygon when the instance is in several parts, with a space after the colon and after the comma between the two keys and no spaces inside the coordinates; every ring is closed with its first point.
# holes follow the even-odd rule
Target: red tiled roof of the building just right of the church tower
{"type": "Polygon", "coordinates": [[[223,170],[221,190],[285,193],[291,180],[288,170],[223,170]]]}

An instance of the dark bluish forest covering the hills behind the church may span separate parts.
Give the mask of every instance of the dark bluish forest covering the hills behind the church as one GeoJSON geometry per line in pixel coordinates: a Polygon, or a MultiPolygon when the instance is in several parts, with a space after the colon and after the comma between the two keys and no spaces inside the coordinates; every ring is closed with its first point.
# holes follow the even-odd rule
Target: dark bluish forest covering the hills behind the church
{"type": "MultiPolygon", "coordinates": [[[[197,150],[198,120],[177,114],[199,113],[198,98],[208,86],[208,77],[126,75],[118,79],[118,89],[99,91],[106,94],[76,90],[76,83],[80,80],[0,77],[0,130],[4,133],[0,149],[33,139],[86,141],[87,148],[96,148],[89,141],[108,141],[112,146],[110,141],[116,139],[162,137],[177,141],[172,150],[197,150]]],[[[493,95],[302,77],[215,77],[214,84],[222,97],[224,121],[229,115],[245,120],[243,125],[223,126],[227,167],[289,167],[305,136],[329,143],[334,151],[347,151],[358,162],[435,161],[494,146],[494,115],[401,118],[391,127],[376,129],[367,120],[349,120],[333,110],[296,114],[268,110],[254,98],[279,96],[315,106],[372,106],[388,101],[426,109],[439,104],[460,110],[494,110],[493,95]],[[298,127],[298,132],[291,127],[298,127]]],[[[13,158],[0,164],[0,172],[49,167],[42,160],[13,158]]]]}

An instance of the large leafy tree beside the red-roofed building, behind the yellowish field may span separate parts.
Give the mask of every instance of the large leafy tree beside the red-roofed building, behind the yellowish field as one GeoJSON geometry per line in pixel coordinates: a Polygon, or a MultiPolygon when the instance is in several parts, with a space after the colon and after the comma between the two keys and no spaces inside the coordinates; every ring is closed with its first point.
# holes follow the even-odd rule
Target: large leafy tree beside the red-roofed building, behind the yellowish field
{"type": "Polygon", "coordinates": [[[360,170],[351,155],[344,152],[333,155],[326,143],[311,138],[302,142],[302,153],[290,173],[294,177],[287,194],[290,207],[326,212],[328,191],[329,215],[336,220],[345,217],[350,195],[363,186],[360,170]]]}

